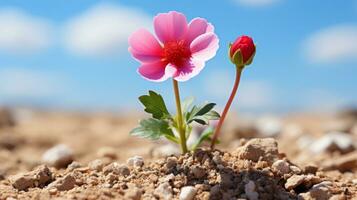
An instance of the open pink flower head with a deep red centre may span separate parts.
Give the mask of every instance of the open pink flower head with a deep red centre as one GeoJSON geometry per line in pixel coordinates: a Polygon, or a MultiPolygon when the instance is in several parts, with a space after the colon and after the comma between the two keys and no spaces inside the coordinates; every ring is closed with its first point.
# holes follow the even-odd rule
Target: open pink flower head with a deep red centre
{"type": "Polygon", "coordinates": [[[141,63],[138,72],[150,81],[187,81],[218,50],[214,28],[203,18],[187,23],[182,13],[161,13],[154,17],[154,30],[157,39],[145,29],[129,37],[129,52],[141,63]]]}

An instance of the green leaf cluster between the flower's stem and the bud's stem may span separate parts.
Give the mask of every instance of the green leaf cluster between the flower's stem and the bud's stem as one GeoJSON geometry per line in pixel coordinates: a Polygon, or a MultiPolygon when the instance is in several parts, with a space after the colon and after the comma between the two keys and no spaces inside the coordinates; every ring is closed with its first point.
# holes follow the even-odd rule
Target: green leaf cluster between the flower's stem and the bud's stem
{"type": "Polygon", "coordinates": [[[201,107],[193,106],[191,111],[185,114],[187,124],[195,121],[199,124],[206,125],[210,120],[219,119],[219,114],[212,110],[215,105],[215,103],[207,103],[201,107]]]}

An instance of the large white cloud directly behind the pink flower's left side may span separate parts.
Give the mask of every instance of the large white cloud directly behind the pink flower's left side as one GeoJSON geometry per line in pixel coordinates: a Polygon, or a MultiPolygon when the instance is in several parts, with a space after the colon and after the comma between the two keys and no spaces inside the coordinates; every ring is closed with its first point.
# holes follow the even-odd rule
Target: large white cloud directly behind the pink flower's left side
{"type": "Polygon", "coordinates": [[[65,44],[79,55],[113,55],[127,49],[127,40],[133,31],[150,26],[151,17],[144,12],[100,4],[68,22],[65,44]]]}

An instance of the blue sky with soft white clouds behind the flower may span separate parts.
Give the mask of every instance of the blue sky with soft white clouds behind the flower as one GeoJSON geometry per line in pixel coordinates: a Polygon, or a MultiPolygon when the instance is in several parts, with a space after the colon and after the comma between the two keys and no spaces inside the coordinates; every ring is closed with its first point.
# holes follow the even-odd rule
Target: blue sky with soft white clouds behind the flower
{"type": "Polygon", "coordinates": [[[234,78],[227,45],[241,34],[257,43],[235,108],[326,110],[357,106],[357,1],[27,1],[0,2],[0,104],[71,109],[139,107],[137,96],[171,82],[136,73],[127,52],[133,30],[177,10],[215,26],[220,49],[182,96],[224,106],[234,78]]]}

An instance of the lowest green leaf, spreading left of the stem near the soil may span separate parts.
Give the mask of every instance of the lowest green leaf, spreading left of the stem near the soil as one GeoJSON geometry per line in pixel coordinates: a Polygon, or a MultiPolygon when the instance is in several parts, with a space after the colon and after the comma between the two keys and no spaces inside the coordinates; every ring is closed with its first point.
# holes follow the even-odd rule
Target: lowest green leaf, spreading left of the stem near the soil
{"type": "Polygon", "coordinates": [[[141,120],[139,126],[134,128],[130,134],[133,136],[149,138],[152,140],[157,140],[164,136],[173,142],[177,143],[178,141],[166,120],[159,120],[154,118],[141,120]]]}

